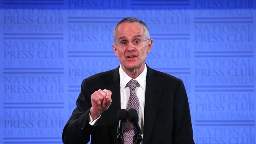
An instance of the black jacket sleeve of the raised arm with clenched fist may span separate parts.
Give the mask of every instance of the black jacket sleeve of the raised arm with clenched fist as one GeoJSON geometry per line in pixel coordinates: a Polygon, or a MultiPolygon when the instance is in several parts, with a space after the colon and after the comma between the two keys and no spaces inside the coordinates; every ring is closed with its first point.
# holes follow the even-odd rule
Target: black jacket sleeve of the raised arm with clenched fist
{"type": "Polygon", "coordinates": [[[76,100],[74,109],[62,133],[64,144],[86,144],[90,141],[90,135],[94,126],[89,124],[91,108],[91,92],[86,79],[81,85],[81,92],[76,100]]]}

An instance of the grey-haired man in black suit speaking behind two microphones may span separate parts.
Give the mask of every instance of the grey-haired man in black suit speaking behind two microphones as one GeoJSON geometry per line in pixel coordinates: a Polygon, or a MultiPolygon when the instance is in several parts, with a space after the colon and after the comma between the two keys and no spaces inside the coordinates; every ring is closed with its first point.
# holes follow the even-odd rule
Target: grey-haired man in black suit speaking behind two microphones
{"type": "MultiPolygon", "coordinates": [[[[143,144],[194,144],[182,80],[145,64],[153,43],[146,24],[124,18],[113,34],[113,50],[121,65],[83,80],[77,107],[63,129],[63,142],[85,144],[91,135],[92,144],[117,143],[117,112],[134,108],[143,144]]],[[[124,143],[130,144],[134,133],[129,134],[133,130],[128,122],[124,129],[124,143]]]]}

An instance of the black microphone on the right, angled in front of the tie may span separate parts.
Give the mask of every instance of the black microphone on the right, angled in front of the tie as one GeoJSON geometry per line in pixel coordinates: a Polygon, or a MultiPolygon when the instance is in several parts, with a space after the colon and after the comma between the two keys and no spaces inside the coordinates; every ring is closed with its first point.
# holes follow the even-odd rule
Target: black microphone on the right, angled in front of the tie
{"type": "Polygon", "coordinates": [[[134,126],[134,137],[133,137],[134,144],[139,144],[142,141],[142,136],[141,136],[141,128],[138,125],[139,117],[138,117],[137,111],[135,109],[129,109],[128,118],[129,118],[129,121],[134,126]]]}

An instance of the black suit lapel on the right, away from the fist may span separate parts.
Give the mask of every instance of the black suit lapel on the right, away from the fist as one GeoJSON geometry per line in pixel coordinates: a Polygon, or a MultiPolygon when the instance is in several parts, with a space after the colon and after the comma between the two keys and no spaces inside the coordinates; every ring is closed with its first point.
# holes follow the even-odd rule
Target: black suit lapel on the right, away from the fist
{"type": "Polygon", "coordinates": [[[146,93],[145,93],[145,108],[144,108],[144,134],[143,143],[147,144],[151,135],[152,128],[158,109],[158,104],[161,99],[161,87],[158,76],[154,71],[147,66],[146,77],[146,93]]]}

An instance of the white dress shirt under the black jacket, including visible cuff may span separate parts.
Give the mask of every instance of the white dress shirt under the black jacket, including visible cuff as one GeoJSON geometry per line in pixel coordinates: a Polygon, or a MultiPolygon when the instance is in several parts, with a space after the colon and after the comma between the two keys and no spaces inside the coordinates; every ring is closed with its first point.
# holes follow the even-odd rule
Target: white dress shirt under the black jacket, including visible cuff
{"type": "MultiPolygon", "coordinates": [[[[132,79],[130,76],[128,76],[124,70],[119,67],[119,75],[120,75],[120,100],[121,100],[121,109],[126,109],[126,105],[128,103],[129,97],[130,97],[130,89],[127,85],[127,83],[132,79]]],[[[141,127],[141,133],[143,137],[143,127],[144,127],[144,105],[145,105],[145,91],[146,91],[146,76],[147,76],[147,66],[145,64],[145,68],[143,72],[135,80],[139,83],[137,87],[135,88],[136,95],[139,99],[139,122],[141,127]]],[[[89,124],[94,126],[100,116],[93,120],[91,118],[90,114],[90,121],[89,124]]]]}

